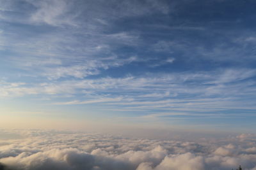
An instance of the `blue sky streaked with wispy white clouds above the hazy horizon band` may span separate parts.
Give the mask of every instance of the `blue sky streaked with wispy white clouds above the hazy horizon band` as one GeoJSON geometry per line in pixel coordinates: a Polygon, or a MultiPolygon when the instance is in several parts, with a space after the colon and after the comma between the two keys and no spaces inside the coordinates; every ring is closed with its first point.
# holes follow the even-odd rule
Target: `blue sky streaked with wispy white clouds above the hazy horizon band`
{"type": "Polygon", "coordinates": [[[0,4],[0,117],[10,124],[255,128],[254,1],[0,4]]]}

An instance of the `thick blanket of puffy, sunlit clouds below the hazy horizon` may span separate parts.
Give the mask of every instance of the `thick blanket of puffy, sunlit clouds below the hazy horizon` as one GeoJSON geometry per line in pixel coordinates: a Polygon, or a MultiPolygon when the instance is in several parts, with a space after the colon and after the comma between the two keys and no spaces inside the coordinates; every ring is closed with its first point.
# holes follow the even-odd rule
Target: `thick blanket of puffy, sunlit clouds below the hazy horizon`
{"type": "Polygon", "coordinates": [[[4,134],[12,138],[0,141],[1,169],[256,169],[254,134],[196,142],[43,130],[4,134]]]}

